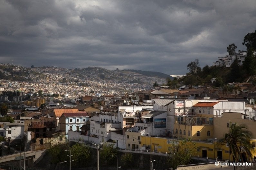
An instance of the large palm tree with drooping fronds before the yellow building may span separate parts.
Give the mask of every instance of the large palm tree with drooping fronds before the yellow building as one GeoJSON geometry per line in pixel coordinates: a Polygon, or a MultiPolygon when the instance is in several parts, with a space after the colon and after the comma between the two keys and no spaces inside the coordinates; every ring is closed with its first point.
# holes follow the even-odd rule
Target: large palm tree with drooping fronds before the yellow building
{"type": "MultiPolygon", "coordinates": [[[[246,154],[247,158],[252,157],[252,145],[250,143],[250,138],[252,137],[252,132],[250,132],[246,125],[229,123],[229,132],[225,133],[224,138],[219,140],[219,144],[228,144],[229,154],[232,154],[234,162],[238,162],[242,154],[246,154]]],[[[234,167],[235,169],[235,167],[234,167]]]]}

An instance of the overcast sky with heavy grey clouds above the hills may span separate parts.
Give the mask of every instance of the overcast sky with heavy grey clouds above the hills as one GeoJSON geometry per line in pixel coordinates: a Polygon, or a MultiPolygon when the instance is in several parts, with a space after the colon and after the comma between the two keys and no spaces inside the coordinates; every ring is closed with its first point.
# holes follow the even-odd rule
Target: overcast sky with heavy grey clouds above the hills
{"type": "Polygon", "coordinates": [[[255,0],[0,0],[0,63],[185,74],[256,30],[255,0]]]}

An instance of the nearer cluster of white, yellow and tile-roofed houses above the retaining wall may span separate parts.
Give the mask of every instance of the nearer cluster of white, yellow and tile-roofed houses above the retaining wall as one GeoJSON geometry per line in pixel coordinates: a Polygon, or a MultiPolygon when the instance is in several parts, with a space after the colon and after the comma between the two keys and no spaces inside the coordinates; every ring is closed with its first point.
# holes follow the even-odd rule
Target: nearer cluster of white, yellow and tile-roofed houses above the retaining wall
{"type": "Polygon", "coordinates": [[[43,108],[25,107],[8,114],[15,123],[0,123],[0,133],[8,145],[24,142],[35,149],[69,140],[111,142],[120,149],[160,153],[169,153],[173,140],[191,139],[197,148],[194,156],[229,159],[227,145],[217,146],[216,141],[228,132],[230,123],[246,124],[256,148],[255,86],[239,86],[243,92],[238,95],[212,88],[159,88],[127,96],[105,95],[100,101],[85,96],[73,107],[53,102],[43,108]]]}

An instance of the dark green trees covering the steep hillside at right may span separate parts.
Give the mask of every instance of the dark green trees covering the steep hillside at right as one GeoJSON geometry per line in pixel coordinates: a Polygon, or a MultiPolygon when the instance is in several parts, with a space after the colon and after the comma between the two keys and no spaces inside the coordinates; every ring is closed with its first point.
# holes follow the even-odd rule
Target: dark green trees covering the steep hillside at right
{"type": "MultiPolygon", "coordinates": [[[[180,83],[192,86],[208,84],[212,87],[222,87],[225,84],[232,82],[251,82],[256,83],[256,30],[255,32],[248,33],[242,42],[242,45],[247,47],[247,55],[242,65],[239,65],[239,61],[236,58],[230,67],[219,67],[219,66],[204,66],[202,69],[199,64],[199,59],[195,59],[187,65],[186,76],[181,79],[171,80],[166,79],[166,85],[171,88],[179,88],[180,83]],[[212,83],[211,79],[215,78],[212,83]]],[[[227,47],[229,55],[236,55],[235,44],[230,44],[227,47]]],[[[238,50],[238,52],[241,52],[238,50]]]]}

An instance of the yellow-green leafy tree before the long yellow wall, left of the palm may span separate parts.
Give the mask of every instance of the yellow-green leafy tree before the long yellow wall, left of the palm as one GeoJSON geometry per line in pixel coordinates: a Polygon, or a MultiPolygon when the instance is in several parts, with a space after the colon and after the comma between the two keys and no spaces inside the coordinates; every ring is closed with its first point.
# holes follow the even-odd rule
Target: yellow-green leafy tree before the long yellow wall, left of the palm
{"type": "Polygon", "coordinates": [[[172,168],[178,165],[188,165],[191,162],[191,155],[195,152],[195,143],[188,140],[173,140],[170,147],[168,163],[172,168]]]}

